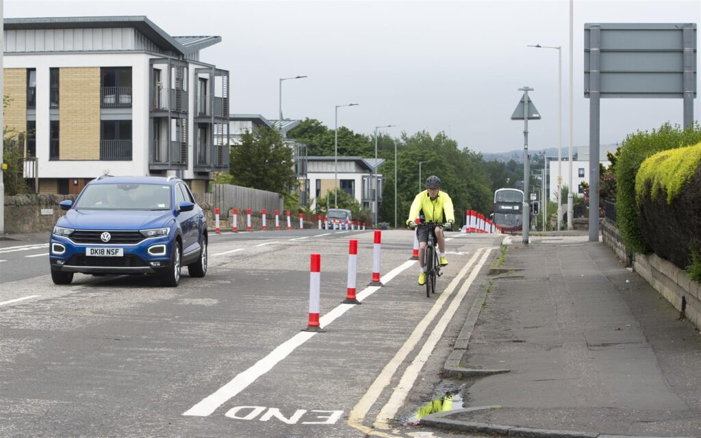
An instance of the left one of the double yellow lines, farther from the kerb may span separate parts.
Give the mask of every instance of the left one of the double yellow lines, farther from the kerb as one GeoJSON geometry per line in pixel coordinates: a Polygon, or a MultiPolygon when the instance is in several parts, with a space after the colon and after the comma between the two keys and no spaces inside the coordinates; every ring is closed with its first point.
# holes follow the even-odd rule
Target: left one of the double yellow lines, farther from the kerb
{"type": "Polygon", "coordinates": [[[375,381],[372,383],[372,385],[370,385],[367,392],[365,392],[365,395],[362,396],[358,404],[355,404],[353,410],[351,410],[351,413],[348,414],[348,423],[362,423],[367,411],[369,411],[372,405],[376,402],[387,385],[390,384],[392,376],[395,374],[400,365],[404,363],[404,359],[406,359],[407,355],[411,353],[411,350],[414,350],[414,346],[419,340],[421,340],[421,336],[423,335],[423,332],[426,331],[428,324],[433,321],[433,318],[435,315],[437,315],[438,311],[443,306],[443,303],[447,301],[448,297],[453,293],[454,289],[461,282],[472,264],[475,263],[477,256],[481,251],[482,248],[477,249],[477,252],[475,252],[472,258],[470,258],[468,263],[463,266],[458,275],[456,275],[456,277],[449,283],[448,287],[446,287],[446,289],[438,296],[438,299],[433,304],[433,307],[430,308],[428,313],[426,313],[426,316],[423,317],[423,320],[416,324],[414,331],[411,332],[411,335],[409,335],[407,341],[404,342],[402,348],[400,348],[392,360],[385,365],[379,376],[375,378],[375,381]]]}

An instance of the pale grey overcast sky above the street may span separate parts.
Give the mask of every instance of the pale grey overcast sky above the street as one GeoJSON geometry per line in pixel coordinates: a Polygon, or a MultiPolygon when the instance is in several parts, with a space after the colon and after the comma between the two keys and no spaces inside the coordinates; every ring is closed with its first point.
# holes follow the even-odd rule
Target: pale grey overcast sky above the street
{"type": "MultiPolygon", "coordinates": [[[[569,144],[569,1],[207,1],[4,0],[6,18],[146,15],[170,35],[218,35],[200,60],[231,75],[231,113],[318,118],[371,133],[446,132],[461,147],[523,147],[511,121],[522,92],[543,119],[529,124],[531,149],[557,147],[557,50],[562,46],[563,134],[569,144]]],[[[574,1],[574,145],[589,143],[583,97],[585,22],[700,22],[701,1],[574,1]]],[[[699,32],[697,32],[698,34],[699,32]]],[[[697,42],[697,47],[699,43],[697,42]]],[[[701,81],[701,75],[697,75],[701,81]]],[[[697,82],[697,90],[701,86],[697,82]]],[[[694,102],[694,118],[701,114],[694,102]]],[[[682,123],[682,100],[601,100],[601,144],[629,132],[682,123]]]]}

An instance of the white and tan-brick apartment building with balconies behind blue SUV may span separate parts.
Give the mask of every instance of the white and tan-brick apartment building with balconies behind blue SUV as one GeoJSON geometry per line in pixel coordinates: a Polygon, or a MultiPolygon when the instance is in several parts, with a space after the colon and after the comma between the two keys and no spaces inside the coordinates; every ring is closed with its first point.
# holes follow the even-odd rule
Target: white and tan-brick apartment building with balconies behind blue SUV
{"type": "Polygon", "coordinates": [[[221,37],[143,16],[7,18],[4,41],[4,122],[25,133],[39,193],[101,174],[177,175],[202,192],[229,170],[229,71],[200,61],[221,37]]]}

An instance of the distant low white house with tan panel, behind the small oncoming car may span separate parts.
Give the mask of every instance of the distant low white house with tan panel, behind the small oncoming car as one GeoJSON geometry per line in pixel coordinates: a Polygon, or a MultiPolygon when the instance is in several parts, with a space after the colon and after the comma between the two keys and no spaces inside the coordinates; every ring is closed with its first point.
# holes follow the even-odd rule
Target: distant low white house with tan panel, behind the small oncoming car
{"type": "MultiPolygon", "coordinates": [[[[374,209],[375,186],[378,188],[377,203],[379,208],[382,205],[383,176],[376,175],[375,166],[380,167],[385,160],[383,158],[360,158],[360,157],[338,157],[332,156],[311,156],[307,157],[307,196],[314,199],[312,208],[316,203],[326,205],[326,195],[328,191],[334,190],[334,184],[338,181],[340,190],[353,196],[358,203],[370,212],[374,209]],[[376,184],[372,184],[373,180],[376,184]]],[[[331,195],[332,196],[332,195],[331,195]]],[[[329,200],[333,208],[333,199],[329,200]]]]}

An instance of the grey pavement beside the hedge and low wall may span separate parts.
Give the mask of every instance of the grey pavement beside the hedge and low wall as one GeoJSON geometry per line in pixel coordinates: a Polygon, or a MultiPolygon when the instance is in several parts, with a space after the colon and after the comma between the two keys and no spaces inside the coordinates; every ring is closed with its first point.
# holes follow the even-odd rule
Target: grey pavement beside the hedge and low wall
{"type": "Polygon", "coordinates": [[[586,235],[519,238],[444,367],[463,406],[421,424],[539,437],[701,436],[701,336],[586,235]],[[468,371],[471,370],[471,371],[468,371]]]}

